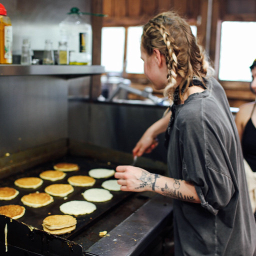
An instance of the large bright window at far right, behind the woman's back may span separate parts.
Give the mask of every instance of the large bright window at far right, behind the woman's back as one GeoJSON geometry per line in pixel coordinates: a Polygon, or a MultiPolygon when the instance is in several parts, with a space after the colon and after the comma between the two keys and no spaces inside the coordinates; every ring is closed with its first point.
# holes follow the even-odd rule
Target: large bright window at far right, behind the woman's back
{"type": "Polygon", "coordinates": [[[256,22],[224,21],[221,24],[220,80],[251,81],[249,66],[256,58],[256,22]]]}

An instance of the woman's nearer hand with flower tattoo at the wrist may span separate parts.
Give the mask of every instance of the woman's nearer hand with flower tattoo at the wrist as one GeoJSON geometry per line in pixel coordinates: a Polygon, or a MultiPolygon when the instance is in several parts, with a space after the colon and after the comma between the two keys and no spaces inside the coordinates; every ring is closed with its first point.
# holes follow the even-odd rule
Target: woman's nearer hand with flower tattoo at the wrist
{"type": "Polygon", "coordinates": [[[142,168],[120,165],[116,167],[114,177],[117,183],[121,185],[122,191],[141,192],[152,190],[155,182],[155,174],[152,174],[142,168]]]}

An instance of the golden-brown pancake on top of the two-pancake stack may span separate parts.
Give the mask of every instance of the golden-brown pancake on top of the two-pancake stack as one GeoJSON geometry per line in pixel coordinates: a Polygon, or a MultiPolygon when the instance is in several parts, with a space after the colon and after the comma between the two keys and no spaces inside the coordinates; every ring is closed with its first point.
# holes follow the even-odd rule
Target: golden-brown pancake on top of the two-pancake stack
{"type": "Polygon", "coordinates": [[[42,225],[47,229],[61,229],[76,225],[76,218],[70,215],[49,215],[42,221],[42,225]]]}

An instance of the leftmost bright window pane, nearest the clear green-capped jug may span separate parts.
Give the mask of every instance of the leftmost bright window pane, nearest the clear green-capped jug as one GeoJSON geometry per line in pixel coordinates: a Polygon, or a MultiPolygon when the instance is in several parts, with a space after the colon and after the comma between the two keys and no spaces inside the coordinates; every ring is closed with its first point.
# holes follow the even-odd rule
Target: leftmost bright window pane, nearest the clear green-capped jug
{"type": "Polygon", "coordinates": [[[101,65],[106,72],[123,71],[124,38],[124,27],[102,27],[101,65]]]}

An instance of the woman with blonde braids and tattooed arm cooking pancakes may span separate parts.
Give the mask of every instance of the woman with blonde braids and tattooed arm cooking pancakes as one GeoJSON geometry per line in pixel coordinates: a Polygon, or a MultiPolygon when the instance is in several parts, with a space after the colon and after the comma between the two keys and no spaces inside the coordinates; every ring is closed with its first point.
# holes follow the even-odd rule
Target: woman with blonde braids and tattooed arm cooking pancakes
{"type": "Polygon", "coordinates": [[[171,11],[156,15],[143,27],[141,58],[154,87],[174,103],[171,114],[147,129],[133,154],[150,151],[167,127],[169,177],[117,166],[121,189],[173,198],[175,256],[256,255],[236,127],[190,26],[171,11]]]}

